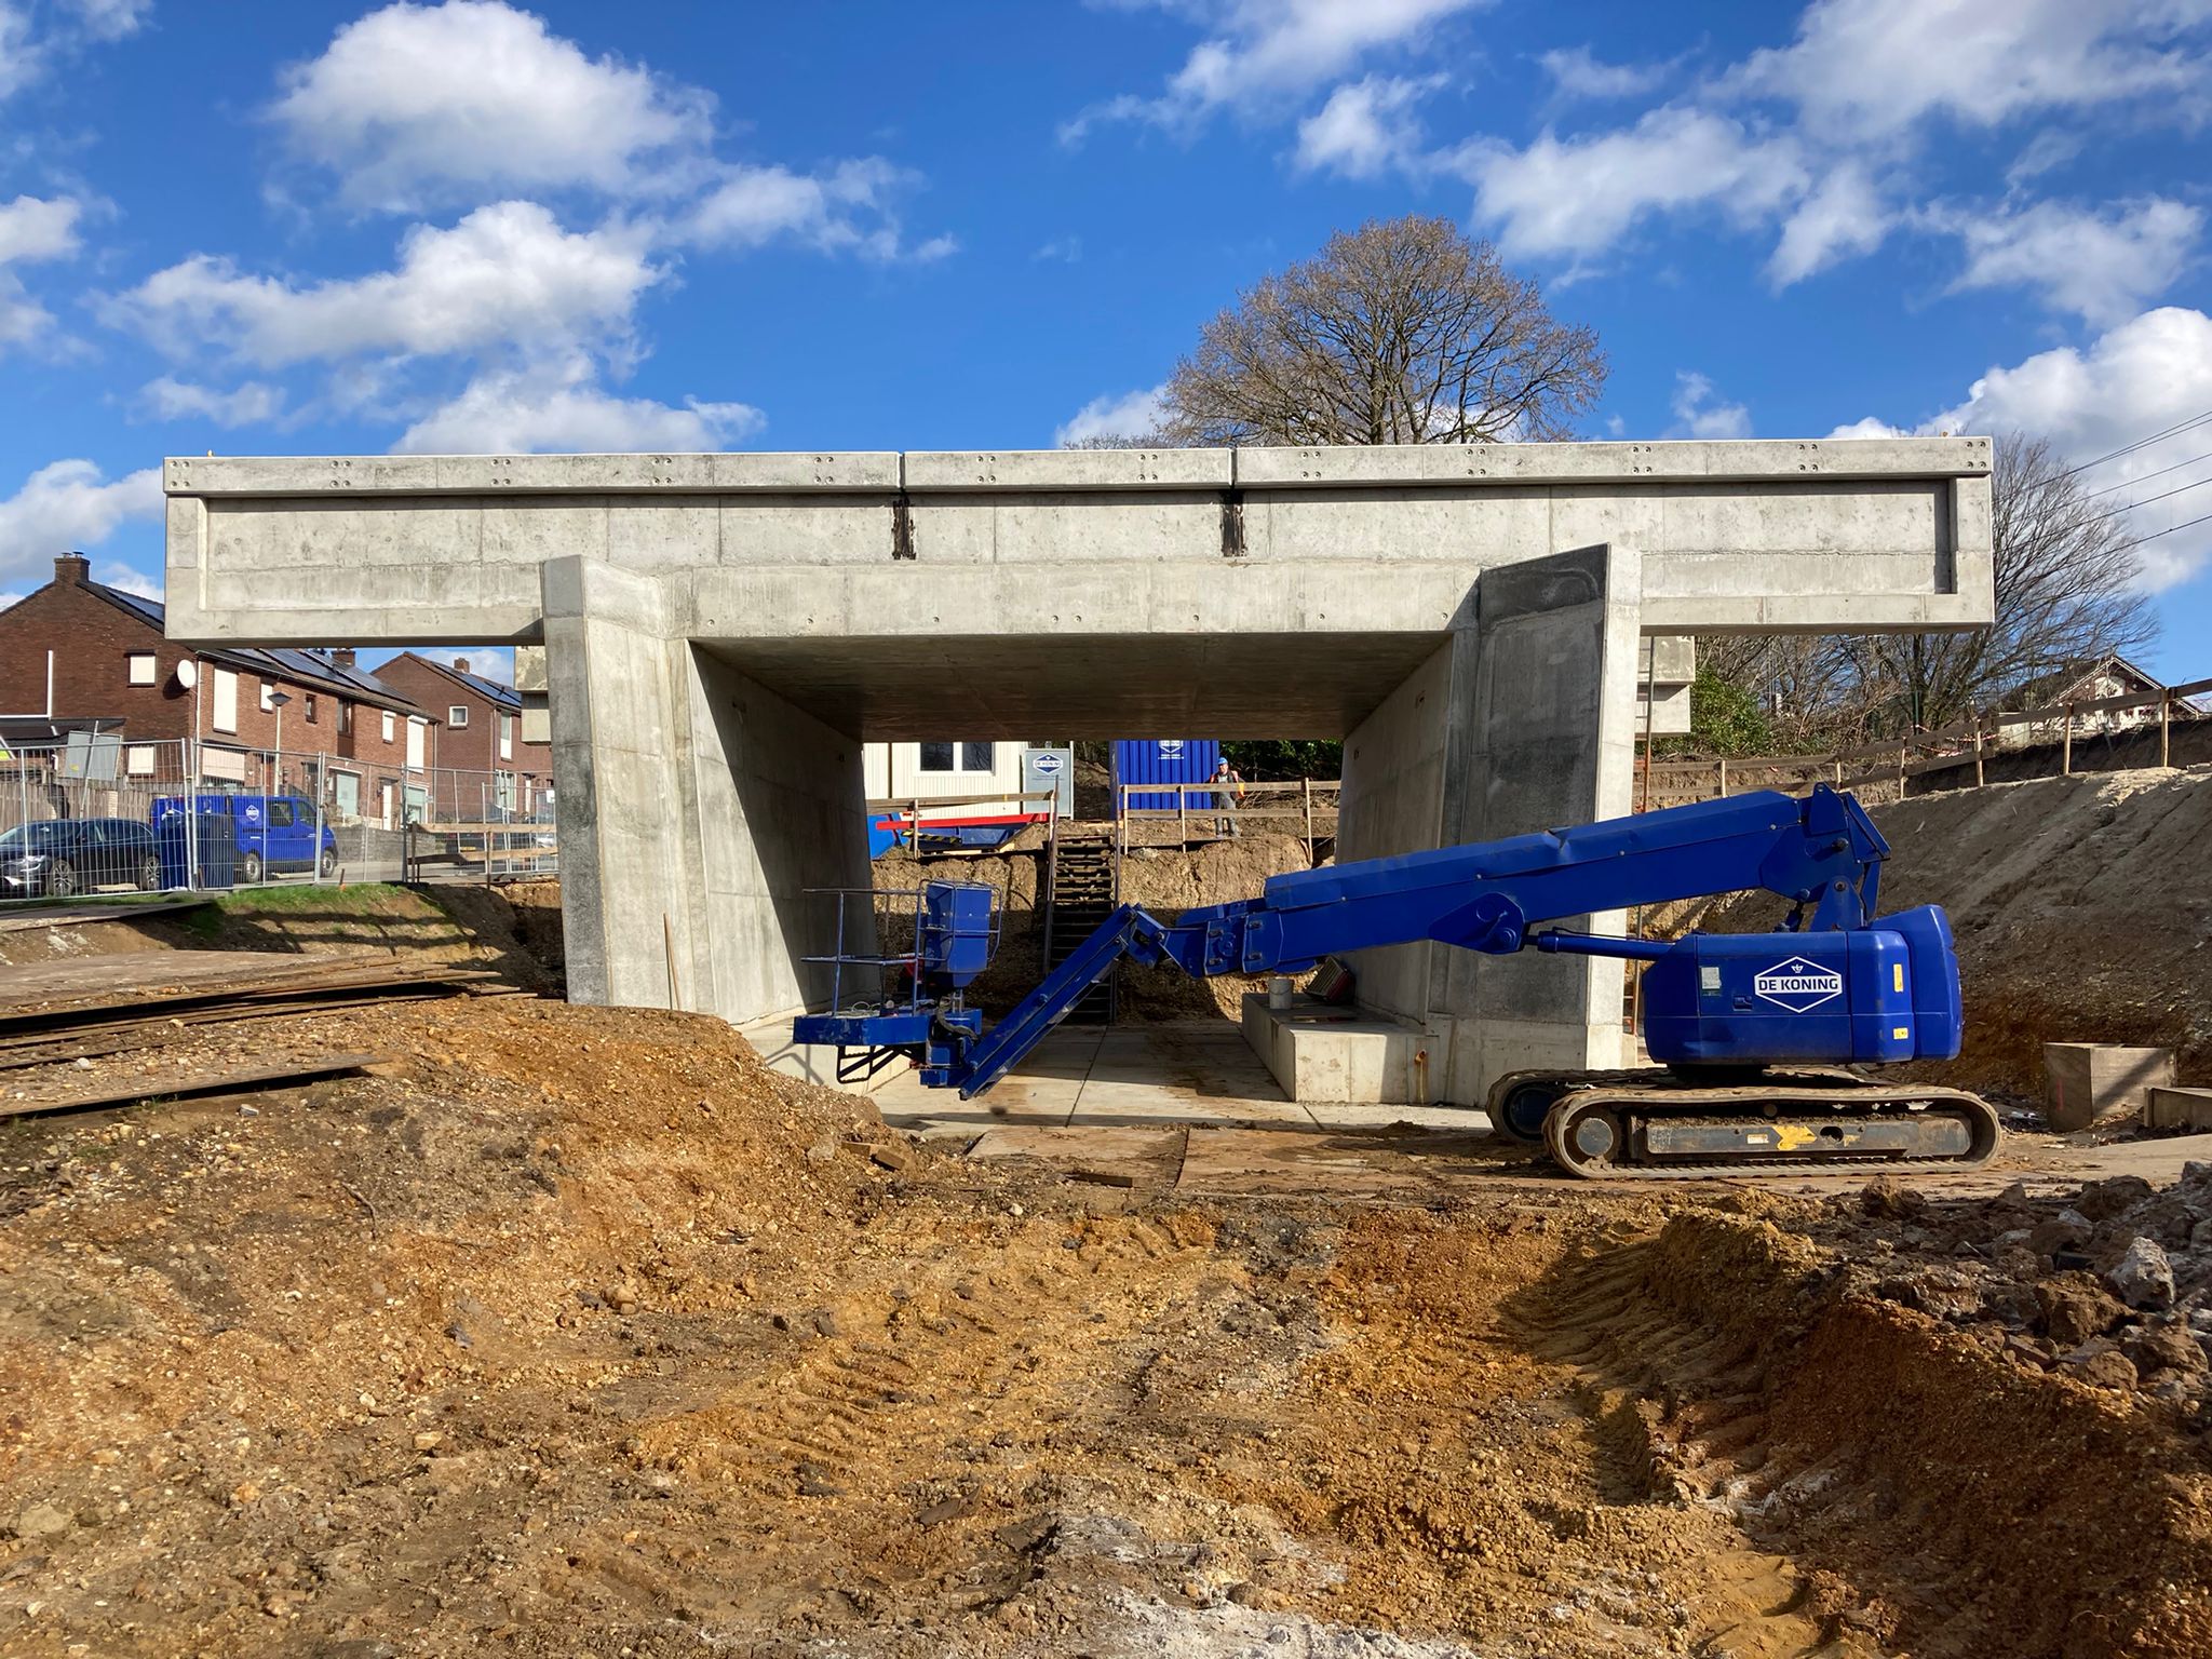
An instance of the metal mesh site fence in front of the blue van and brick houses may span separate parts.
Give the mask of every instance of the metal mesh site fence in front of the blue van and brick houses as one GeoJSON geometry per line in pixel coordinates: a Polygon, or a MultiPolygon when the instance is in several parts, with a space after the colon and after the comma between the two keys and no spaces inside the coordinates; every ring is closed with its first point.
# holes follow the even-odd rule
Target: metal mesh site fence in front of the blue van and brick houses
{"type": "Polygon", "coordinates": [[[557,874],[546,779],[73,732],[0,743],[0,905],[557,874]]]}

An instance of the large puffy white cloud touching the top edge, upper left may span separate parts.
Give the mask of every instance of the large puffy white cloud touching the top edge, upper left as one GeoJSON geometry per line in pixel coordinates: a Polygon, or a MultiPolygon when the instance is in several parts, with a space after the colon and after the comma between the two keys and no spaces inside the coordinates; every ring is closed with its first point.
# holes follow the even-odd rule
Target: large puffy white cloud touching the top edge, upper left
{"type": "Polygon", "coordinates": [[[511,190],[661,195],[695,177],[712,97],[586,58],[500,0],[392,4],[283,73],[270,108],[292,150],[358,208],[414,210],[511,190]]]}

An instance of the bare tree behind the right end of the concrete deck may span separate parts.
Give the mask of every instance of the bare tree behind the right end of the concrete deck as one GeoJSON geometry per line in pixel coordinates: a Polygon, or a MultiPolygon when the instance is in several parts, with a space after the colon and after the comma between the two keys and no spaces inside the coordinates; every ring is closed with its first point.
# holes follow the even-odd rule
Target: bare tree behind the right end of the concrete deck
{"type": "Polygon", "coordinates": [[[2159,635],[2137,591],[2126,513],[2044,438],[2008,434],[1991,462],[1995,622],[1971,633],[1701,639],[1699,664],[1761,697],[1805,748],[1933,730],[2053,675],[2159,635]]]}

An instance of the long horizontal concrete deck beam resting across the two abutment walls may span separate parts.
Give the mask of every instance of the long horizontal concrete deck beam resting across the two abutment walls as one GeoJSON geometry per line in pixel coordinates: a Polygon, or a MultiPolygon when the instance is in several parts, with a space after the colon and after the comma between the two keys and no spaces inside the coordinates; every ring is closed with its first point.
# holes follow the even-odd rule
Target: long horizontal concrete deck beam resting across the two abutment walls
{"type": "Polygon", "coordinates": [[[553,557],[697,582],[714,628],[856,641],[947,604],[1117,633],[1135,604],[1073,597],[1139,593],[1148,630],[1440,630],[1480,571],[1595,544],[1641,553],[1655,633],[1991,611],[1986,438],[195,456],[164,489],[170,635],[201,644],[535,641],[553,557]]]}

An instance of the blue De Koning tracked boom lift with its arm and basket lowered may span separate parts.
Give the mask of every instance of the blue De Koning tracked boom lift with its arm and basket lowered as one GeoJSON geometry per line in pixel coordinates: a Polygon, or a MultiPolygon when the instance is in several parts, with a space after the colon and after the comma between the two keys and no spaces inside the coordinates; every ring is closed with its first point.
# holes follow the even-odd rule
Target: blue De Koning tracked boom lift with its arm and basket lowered
{"type": "Polygon", "coordinates": [[[1856,1170],[1984,1164],[1997,1115],[1980,1097],[1882,1082],[1865,1066],[1951,1060],[1964,1031],[1951,925],[1933,905],[1878,916],[1889,843],[1849,794],[1754,792],[1632,818],[1274,876],[1256,898],[1161,922],[1119,907],[989,1031],[967,991],[998,945],[998,894],[918,889],[914,942],[894,956],[827,956],[832,1011],[792,1040],[838,1051],[838,1077],[894,1057],[922,1084],[973,1099],[1057,1026],[1115,962],[1172,962],[1194,978],[1298,973],[1323,956],[1436,940],[1486,956],[1522,949],[1646,962],[1644,1046],[1655,1068],[1515,1071],[1489,1091],[1491,1124],[1542,1144],[1582,1177],[1856,1170]],[[1770,933],[1679,940],[1548,927],[1593,911],[1743,889],[1790,902],[1770,933]],[[878,984],[843,1002],[847,973],[878,984]],[[889,980],[889,987],[883,984],[889,980]]]}

